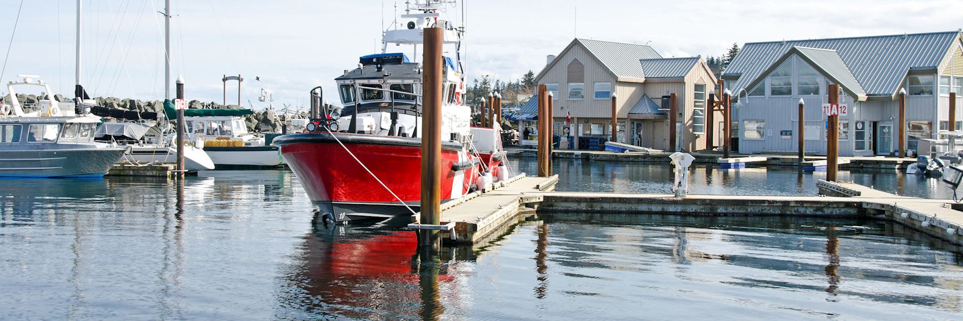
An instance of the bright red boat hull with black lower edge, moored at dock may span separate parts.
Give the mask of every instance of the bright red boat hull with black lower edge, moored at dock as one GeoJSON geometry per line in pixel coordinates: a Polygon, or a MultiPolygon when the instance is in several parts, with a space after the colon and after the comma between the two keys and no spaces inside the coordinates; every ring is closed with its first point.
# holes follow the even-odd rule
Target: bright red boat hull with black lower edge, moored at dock
{"type": "MultiPolygon", "coordinates": [[[[311,201],[335,221],[410,215],[405,204],[415,211],[419,208],[420,139],[301,133],[275,138],[273,144],[280,147],[311,201]]],[[[442,200],[465,194],[478,175],[474,164],[460,145],[443,145],[442,200]]]]}

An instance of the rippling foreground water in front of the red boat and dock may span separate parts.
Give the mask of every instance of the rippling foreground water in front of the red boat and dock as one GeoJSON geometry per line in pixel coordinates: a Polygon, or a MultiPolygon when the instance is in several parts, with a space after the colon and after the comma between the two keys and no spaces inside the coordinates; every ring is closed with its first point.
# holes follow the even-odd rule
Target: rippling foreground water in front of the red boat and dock
{"type": "Polygon", "coordinates": [[[554,214],[419,258],[313,224],[289,172],[0,184],[3,320],[963,318],[958,249],[884,223],[554,214]]]}

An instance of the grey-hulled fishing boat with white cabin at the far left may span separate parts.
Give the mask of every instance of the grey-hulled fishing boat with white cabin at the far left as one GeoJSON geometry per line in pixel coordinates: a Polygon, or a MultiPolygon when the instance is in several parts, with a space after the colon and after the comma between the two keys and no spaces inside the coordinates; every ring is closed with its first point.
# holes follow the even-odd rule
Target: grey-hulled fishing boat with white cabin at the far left
{"type": "Polygon", "coordinates": [[[22,105],[13,90],[16,85],[41,86],[50,93],[46,84],[31,76],[7,85],[10,101],[0,104],[0,176],[102,176],[127,151],[93,142],[99,117],[77,116],[73,104],[56,99],[22,105]],[[27,113],[25,108],[35,110],[27,113]]]}

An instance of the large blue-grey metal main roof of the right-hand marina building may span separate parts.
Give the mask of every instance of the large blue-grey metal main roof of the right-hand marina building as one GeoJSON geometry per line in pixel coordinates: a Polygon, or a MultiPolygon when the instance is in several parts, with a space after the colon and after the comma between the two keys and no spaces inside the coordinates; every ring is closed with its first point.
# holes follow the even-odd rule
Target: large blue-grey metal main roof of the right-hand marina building
{"type": "MultiPolygon", "coordinates": [[[[749,42],[723,76],[742,74],[734,93],[745,89],[794,47],[835,50],[855,80],[870,95],[892,96],[910,68],[936,68],[959,31],[822,40],[749,42]]],[[[828,59],[828,58],[827,58],[828,59]]]]}

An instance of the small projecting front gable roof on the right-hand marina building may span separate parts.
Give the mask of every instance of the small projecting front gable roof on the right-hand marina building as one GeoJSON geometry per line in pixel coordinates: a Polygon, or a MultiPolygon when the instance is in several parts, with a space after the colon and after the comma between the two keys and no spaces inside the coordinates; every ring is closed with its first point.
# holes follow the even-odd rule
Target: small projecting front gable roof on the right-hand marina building
{"type": "Polygon", "coordinates": [[[822,72],[822,74],[833,83],[840,84],[847,94],[856,97],[857,100],[866,100],[866,91],[863,89],[863,86],[859,84],[859,81],[856,80],[856,77],[852,75],[849,67],[846,67],[846,63],[843,62],[843,58],[840,57],[836,50],[800,46],[793,46],[792,49],[783,54],[782,57],[779,57],[779,59],[772,63],[765,71],[760,73],[756,79],[746,85],[745,88],[756,88],[757,85],[766,80],[770,72],[781,66],[783,62],[792,58],[794,55],[799,56],[803,61],[822,72]]]}

